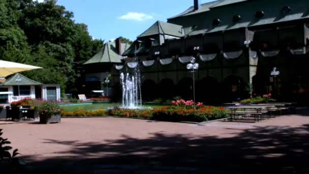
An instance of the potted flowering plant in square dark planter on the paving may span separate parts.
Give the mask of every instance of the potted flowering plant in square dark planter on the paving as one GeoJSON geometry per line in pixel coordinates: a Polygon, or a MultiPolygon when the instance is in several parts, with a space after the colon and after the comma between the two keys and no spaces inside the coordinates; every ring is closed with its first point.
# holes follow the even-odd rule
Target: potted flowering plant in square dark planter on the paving
{"type": "Polygon", "coordinates": [[[38,109],[40,115],[40,123],[58,123],[61,121],[61,109],[58,104],[52,102],[44,102],[38,109]]]}

